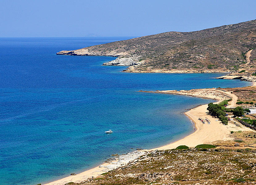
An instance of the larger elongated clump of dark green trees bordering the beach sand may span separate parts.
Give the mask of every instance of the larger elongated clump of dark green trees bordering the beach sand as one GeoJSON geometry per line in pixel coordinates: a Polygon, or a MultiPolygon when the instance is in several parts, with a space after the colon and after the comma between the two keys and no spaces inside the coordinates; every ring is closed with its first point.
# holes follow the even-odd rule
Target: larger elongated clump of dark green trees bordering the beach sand
{"type": "MultiPolygon", "coordinates": [[[[224,103],[225,102],[223,102],[223,105],[225,105],[224,103]]],[[[222,104],[222,102],[220,104],[222,104]]],[[[223,108],[223,106],[221,106],[220,104],[209,103],[207,110],[211,112],[214,116],[217,116],[221,123],[227,125],[228,118],[225,117],[226,113],[223,111],[223,109],[225,110],[225,107],[223,108]]]]}

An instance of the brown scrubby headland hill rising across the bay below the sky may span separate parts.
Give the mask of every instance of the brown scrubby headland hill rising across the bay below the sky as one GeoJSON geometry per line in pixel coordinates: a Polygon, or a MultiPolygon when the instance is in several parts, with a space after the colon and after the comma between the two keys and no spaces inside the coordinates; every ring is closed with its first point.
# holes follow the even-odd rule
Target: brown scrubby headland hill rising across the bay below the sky
{"type": "Polygon", "coordinates": [[[115,56],[105,65],[132,66],[127,72],[230,72],[253,70],[254,48],[256,20],[201,31],[165,32],[57,55],[115,56]]]}

